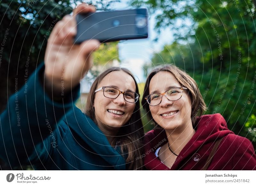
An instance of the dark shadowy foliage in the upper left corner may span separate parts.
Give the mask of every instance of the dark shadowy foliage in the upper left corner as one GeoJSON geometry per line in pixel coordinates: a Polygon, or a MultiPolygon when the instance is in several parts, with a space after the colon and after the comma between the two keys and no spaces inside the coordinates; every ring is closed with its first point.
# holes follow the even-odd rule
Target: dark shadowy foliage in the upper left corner
{"type": "Polygon", "coordinates": [[[4,42],[0,74],[2,83],[0,111],[7,97],[23,86],[38,63],[44,60],[44,50],[52,27],[72,11],[73,1],[6,0],[0,3],[0,42],[4,42]],[[26,72],[25,72],[26,70],[26,72]],[[8,85],[8,86],[7,86],[8,85]]]}

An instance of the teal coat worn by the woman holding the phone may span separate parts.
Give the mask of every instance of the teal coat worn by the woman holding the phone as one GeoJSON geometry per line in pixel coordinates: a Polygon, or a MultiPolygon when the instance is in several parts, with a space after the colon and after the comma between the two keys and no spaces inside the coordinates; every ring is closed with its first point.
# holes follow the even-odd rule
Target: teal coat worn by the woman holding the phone
{"type": "Polygon", "coordinates": [[[54,102],[40,81],[44,66],[38,69],[9,98],[0,115],[0,158],[12,168],[124,170],[125,160],[118,149],[74,105],[79,87],[65,95],[65,100],[54,102]]]}

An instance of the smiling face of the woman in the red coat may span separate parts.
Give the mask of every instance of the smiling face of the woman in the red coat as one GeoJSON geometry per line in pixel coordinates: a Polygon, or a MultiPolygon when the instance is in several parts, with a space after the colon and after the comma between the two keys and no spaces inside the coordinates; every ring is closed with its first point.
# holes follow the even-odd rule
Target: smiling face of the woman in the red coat
{"type": "MultiPolygon", "coordinates": [[[[149,83],[149,94],[153,92],[163,93],[170,87],[182,87],[182,85],[172,73],[160,71],[152,77],[149,83]]],[[[163,95],[159,105],[149,106],[153,119],[166,130],[192,126],[191,100],[187,90],[182,91],[182,97],[179,100],[169,101],[163,95]]]]}

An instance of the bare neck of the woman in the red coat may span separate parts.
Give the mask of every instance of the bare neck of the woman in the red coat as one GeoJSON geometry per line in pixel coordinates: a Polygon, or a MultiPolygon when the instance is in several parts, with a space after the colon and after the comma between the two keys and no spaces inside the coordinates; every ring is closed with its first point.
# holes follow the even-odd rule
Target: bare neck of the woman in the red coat
{"type": "Polygon", "coordinates": [[[170,131],[165,130],[165,132],[169,142],[169,147],[172,149],[172,151],[175,154],[179,154],[180,151],[185,147],[185,145],[192,138],[192,136],[196,133],[196,131],[192,127],[192,123],[187,125],[185,129],[176,128],[175,130],[170,130],[170,131]]]}

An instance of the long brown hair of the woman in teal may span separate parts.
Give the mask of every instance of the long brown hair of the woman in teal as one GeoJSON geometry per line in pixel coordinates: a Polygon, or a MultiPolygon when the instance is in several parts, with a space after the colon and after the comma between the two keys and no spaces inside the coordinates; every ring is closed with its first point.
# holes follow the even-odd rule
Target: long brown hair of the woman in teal
{"type": "MultiPolygon", "coordinates": [[[[89,96],[87,98],[87,104],[86,104],[86,114],[97,124],[96,118],[95,118],[95,111],[94,111],[94,98],[95,93],[94,91],[98,87],[98,84],[100,81],[109,73],[113,71],[123,71],[126,74],[129,74],[136,86],[136,92],[139,94],[139,88],[138,84],[132,75],[132,73],[126,69],[121,67],[111,67],[108,68],[106,71],[101,73],[95,81],[92,83],[92,87],[89,92],[89,96]]],[[[120,146],[121,152],[123,153],[123,156],[126,158],[126,169],[128,170],[142,170],[143,169],[143,161],[142,159],[138,158],[142,155],[142,147],[143,147],[143,136],[144,136],[144,130],[143,125],[140,119],[140,102],[137,101],[135,103],[135,108],[132,113],[132,116],[130,120],[122,126],[115,139],[112,142],[112,146],[120,146]]]]}

